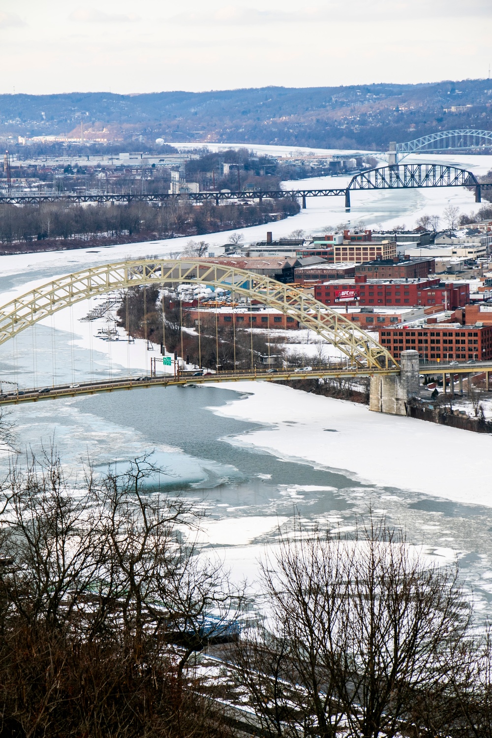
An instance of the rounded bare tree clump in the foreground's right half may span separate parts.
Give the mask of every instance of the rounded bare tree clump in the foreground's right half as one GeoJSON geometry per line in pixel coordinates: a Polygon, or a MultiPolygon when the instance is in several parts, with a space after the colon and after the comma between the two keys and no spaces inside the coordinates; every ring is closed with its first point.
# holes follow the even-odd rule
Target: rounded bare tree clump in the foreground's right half
{"type": "Polygon", "coordinates": [[[268,616],[233,660],[265,734],[492,736],[491,631],[456,569],[370,515],[350,537],[299,523],[262,573],[268,616]]]}

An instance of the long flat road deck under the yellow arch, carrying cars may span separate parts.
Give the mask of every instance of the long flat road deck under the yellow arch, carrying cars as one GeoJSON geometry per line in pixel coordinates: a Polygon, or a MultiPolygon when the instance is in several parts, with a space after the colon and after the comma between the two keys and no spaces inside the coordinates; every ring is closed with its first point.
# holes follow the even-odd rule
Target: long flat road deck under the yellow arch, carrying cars
{"type": "Polygon", "coordinates": [[[212,384],[215,382],[241,382],[245,380],[275,382],[278,380],[294,379],[320,379],[333,377],[341,379],[344,377],[354,378],[357,376],[367,377],[378,375],[399,374],[399,369],[362,369],[362,368],[338,368],[338,369],[313,369],[309,371],[271,370],[271,371],[239,371],[219,372],[217,374],[205,374],[195,376],[187,372],[185,376],[173,377],[169,375],[157,377],[126,377],[121,379],[110,379],[103,382],[81,382],[79,385],[61,384],[55,387],[44,387],[42,389],[19,390],[18,393],[4,393],[0,395],[0,405],[17,405],[24,402],[38,402],[40,400],[55,400],[63,397],[78,397],[83,395],[94,395],[102,392],[116,392],[117,390],[135,390],[142,387],[173,387],[186,384],[212,384]]]}

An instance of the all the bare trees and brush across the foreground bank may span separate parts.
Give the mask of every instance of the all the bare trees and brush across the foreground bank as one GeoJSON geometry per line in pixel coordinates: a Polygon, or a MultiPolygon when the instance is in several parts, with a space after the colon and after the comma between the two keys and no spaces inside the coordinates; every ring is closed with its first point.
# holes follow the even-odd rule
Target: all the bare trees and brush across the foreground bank
{"type": "Polygon", "coordinates": [[[53,450],[12,466],[2,736],[229,738],[239,691],[241,730],[257,735],[492,737],[491,630],[473,623],[454,566],[372,511],[347,534],[297,520],[263,559],[252,620],[194,545],[193,507],[159,493],[163,473],[144,457],[77,483],[53,450]],[[215,686],[193,658],[214,643],[215,686]]]}

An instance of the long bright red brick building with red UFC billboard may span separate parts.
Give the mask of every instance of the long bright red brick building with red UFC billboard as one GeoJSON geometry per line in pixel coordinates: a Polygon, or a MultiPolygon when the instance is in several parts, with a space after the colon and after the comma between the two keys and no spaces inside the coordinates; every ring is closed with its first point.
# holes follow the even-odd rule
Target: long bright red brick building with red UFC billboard
{"type": "Polygon", "coordinates": [[[438,277],[426,280],[367,280],[365,275],[353,280],[326,282],[314,286],[314,297],[324,305],[339,305],[344,290],[354,294],[352,302],[361,306],[434,306],[448,310],[465,306],[470,301],[470,286],[465,282],[441,282],[438,277]]]}

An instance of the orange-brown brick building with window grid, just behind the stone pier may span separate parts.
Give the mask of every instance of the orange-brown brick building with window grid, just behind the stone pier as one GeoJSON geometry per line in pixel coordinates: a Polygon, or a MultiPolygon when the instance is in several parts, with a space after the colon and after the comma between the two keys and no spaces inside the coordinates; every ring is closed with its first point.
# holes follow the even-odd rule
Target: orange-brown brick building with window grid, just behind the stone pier
{"type": "Polygon", "coordinates": [[[485,361],[492,359],[492,325],[459,323],[424,323],[396,325],[378,331],[379,342],[399,359],[401,351],[411,348],[421,359],[485,361]]]}

